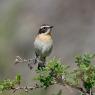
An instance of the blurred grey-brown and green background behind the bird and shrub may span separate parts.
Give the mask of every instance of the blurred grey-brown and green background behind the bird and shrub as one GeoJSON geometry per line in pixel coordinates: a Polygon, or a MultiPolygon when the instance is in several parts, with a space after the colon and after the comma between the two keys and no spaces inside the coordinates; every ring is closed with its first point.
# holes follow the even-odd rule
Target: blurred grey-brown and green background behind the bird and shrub
{"type": "MultiPolygon", "coordinates": [[[[23,85],[33,83],[35,72],[25,64],[14,65],[14,60],[17,55],[33,57],[34,37],[42,24],[54,26],[48,59],[56,56],[74,67],[75,55],[95,52],[95,0],[0,0],[0,80],[20,74],[23,85]]],[[[57,95],[60,90],[62,95],[79,95],[59,85],[17,95],[57,95]]]]}

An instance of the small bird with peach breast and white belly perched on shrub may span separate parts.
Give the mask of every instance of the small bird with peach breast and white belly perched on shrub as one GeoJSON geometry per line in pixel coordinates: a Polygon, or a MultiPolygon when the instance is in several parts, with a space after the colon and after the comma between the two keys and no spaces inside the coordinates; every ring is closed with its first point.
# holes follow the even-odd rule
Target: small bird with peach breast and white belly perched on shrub
{"type": "Polygon", "coordinates": [[[53,49],[52,30],[53,26],[43,24],[34,40],[35,63],[38,62],[38,69],[45,67],[46,57],[48,57],[53,49]]]}

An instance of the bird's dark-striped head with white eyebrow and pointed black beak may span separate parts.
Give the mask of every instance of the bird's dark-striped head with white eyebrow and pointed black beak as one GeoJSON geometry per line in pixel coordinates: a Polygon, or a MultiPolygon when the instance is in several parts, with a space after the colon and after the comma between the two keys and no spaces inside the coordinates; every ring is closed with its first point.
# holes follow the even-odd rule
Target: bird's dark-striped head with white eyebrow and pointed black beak
{"type": "Polygon", "coordinates": [[[43,24],[43,25],[41,25],[38,34],[46,34],[46,35],[51,34],[52,28],[53,28],[53,26],[43,24]]]}

